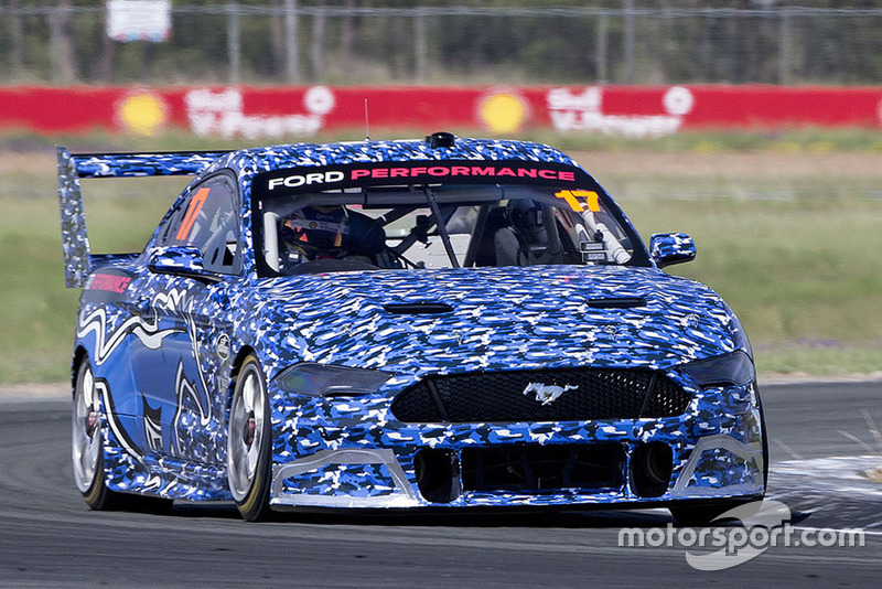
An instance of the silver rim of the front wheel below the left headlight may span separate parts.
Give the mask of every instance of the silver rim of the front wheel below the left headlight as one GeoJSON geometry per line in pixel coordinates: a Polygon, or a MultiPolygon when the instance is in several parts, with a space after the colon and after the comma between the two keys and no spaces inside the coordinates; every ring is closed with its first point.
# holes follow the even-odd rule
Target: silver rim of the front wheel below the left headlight
{"type": "Polygon", "coordinates": [[[248,366],[233,397],[227,430],[227,479],[233,499],[239,502],[248,495],[257,474],[263,443],[265,397],[259,373],[248,366]]]}

